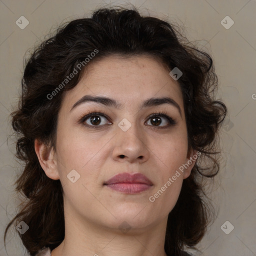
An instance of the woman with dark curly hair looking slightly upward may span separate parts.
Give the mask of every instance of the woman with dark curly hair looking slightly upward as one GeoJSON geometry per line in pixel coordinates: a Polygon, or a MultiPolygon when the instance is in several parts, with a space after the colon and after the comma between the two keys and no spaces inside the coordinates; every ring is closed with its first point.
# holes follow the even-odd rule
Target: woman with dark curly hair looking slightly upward
{"type": "Polygon", "coordinates": [[[12,113],[26,201],[5,235],[16,220],[37,256],[188,255],[213,213],[199,178],[219,168],[216,81],[207,53],[135,8],[60,27],[12,113]]]}

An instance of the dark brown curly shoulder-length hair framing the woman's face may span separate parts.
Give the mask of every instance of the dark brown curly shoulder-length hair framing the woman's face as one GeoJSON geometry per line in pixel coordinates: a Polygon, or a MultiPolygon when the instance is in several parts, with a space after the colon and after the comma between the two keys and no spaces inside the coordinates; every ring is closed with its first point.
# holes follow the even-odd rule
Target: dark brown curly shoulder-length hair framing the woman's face
{"type": "Polygon", "coordinates": [[[34,141],[37,138],[55,149],[57,115],[64,91],[78,83],[86,65],[54,97],[49,99],[49,94],[97,49],[89,64],[111,54],[147,54],[160,59],[169,70],[178,67],[183,73],[178,83],[183,95],[188,147],[201,155],[189,177],[183,180],[178,200],[169,213],[164,249],[168,255],[179,255],[185,246],[195,248],[214,218],[214,207],[203,191],[201,177],[213,177],[219,170],[215,156],[219,153],[218,131],[226,106],[214,98],[217,77],[212,58],[182,36],[177,27],[156,17],[142,16],[134,6],[102,7],[90,18],[59,26],[31,53],[22,77],[22,95],[11,113],[11,124],[18,136],[16,157],[24,162],[14,184],[24,200],[5,229],[4,245],[14,220],[29,226],[24,234],[18,234],[31,255],[44,246],[53,250],[64,239],[62,186],[60,180],[50,179],[41,168],[34,141]]]}

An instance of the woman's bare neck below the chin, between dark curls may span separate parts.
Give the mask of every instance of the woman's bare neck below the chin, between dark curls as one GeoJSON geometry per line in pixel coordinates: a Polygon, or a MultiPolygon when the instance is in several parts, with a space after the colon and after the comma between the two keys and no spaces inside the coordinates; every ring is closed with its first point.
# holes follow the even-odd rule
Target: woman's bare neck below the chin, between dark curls
{"type": "Polygon", "coordinates": [[[167,216],[144,228],[111,229],[65,216],[65,237],[51,256],[166,256],[164,238],[167,216]]]}

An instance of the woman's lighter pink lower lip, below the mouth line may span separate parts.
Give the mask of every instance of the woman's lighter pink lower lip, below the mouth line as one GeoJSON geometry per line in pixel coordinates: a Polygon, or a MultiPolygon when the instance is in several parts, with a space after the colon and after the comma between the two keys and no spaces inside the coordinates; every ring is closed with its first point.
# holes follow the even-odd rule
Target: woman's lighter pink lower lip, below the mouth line
{"type": "Polygon", "coordinates": [[[135,194],[149,189],[151,186],[144,183],[115,183],[108,184],[107,187],[128,194],[135,194]]]}

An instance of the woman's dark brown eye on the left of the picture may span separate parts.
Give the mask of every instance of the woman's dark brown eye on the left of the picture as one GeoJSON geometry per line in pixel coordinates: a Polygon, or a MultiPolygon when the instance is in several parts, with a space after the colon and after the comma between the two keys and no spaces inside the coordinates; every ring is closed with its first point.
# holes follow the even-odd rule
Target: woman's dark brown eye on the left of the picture
{"type": "Polygon", "coordinates": [[[99,128],[105,124],[112,124],[103,113],[93,112],[82,117],[81,122],[90,128],[99,128]]]}

